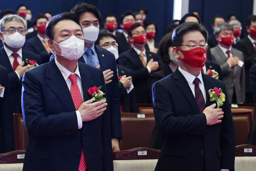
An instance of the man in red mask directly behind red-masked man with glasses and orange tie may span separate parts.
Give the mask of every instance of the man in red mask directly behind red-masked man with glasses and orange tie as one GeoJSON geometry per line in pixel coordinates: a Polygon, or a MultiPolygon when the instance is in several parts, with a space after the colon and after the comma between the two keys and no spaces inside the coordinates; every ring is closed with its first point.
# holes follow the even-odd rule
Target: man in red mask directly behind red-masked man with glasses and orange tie
{"type": "Polygon", "coordinates": [[[126,11],[120,17],[120,27],[123,29],[123,33],[116,35],[116,42],[118,43],[118,53],[122,53],[132,48],[132,45],[128,39],[128,30],[135,23],[135,17],[131,11],[126,11]]]}

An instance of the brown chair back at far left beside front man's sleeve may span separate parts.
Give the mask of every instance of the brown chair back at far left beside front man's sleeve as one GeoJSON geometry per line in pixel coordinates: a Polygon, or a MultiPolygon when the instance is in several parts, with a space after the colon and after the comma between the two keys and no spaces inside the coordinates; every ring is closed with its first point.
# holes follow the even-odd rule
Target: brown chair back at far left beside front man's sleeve
{"type": "Polygon", "coordinates": [[[28,146],[28,133],[24,125],[22,114],[14,114],[13,120],[15,150],[26,150],[28,146]]]}

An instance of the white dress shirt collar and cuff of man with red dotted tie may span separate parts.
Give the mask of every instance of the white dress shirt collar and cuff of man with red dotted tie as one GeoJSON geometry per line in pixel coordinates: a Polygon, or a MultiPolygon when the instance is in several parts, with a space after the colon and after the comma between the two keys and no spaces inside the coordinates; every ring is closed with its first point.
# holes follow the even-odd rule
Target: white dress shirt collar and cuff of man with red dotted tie
{"type": "MultiPolygon", "coordinates": [[[[68,79],[68,77],[70,76],[70,74],[76,74],[78,75],[78,77],[76,77],[76,83],[80,89],[80,92],[81,92],[81,96],[82,96],[82,100],[84,102],[84,92],[83,92],[83,87],[82,87],[82,80],[81,80],[81,77],[80,77],[80,72],[79,72],[79,69],[78,69],[78,65],[76,67],[76,71],[74,73],[71,73],[70,71],[68,71],[65,67],[63,67],[62,65],[60,65],[60,63],[57,61],[56,57],[54,57],[54,60],[55,60],[55,63],[58,67],[58,69],[60,70],[62,76],[64,77],[64,80],[66,81],[67,83],[67,86],[68,86],[68,89],[70,91],[71,89],[71,80],[68,79]]],[[[70,92],[71,93],[71,92],[70,92]]],[[[80,115],[80,112],[79,110],[76,110],[76,117],[77,117],[77,123],[78,123],[78,129],[81,129],[83,124],[82,124],[82,117],[80,115]]]]}

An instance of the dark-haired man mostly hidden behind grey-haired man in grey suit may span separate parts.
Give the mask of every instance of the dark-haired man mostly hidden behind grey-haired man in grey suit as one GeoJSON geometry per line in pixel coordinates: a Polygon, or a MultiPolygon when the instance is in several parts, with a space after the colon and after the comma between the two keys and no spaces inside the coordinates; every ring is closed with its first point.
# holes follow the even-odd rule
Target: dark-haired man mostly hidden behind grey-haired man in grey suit
{"type": "MultiPolygon", "coordinates": [[[[225,22],[225,19],[222,16],[220,15],[215,16],[214,19],[212,20],[212,29],[214,30],[214,28],[218,26],[218,24],[224,23],[224,22],[225,22]]],[[[208,36],[207,43],[209,45],[209,48],[212,48],[218,45],[218,41],[216,40],[214,33],[208,36]]]]}

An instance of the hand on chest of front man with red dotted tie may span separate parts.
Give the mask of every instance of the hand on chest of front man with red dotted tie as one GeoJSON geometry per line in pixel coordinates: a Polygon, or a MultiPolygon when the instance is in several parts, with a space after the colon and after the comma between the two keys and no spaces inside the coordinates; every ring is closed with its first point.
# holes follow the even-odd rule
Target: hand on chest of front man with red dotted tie
{"type": "Polygon", "coordinates": [[[78,108],[82,122],[87,122],[98,118],[103,114],[103,112],[107,109],[106,106],[108,105],[104,101],[93,102],[93,99],[87,100],[83,102],[81,106],[78,108]]]}

